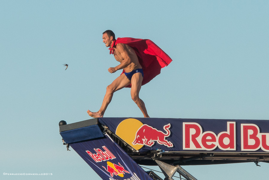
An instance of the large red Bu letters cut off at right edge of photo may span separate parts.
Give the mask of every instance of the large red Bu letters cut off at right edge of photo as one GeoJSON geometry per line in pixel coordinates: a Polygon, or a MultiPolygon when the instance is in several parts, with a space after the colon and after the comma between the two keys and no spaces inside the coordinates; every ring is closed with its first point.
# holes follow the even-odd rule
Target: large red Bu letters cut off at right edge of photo
{"type": "Polygon", "coordinates": [[[269,152],[269,133],[260,133],[255,124],[241,124],[242,151],[256,151],[261,148],[269,152]]]}

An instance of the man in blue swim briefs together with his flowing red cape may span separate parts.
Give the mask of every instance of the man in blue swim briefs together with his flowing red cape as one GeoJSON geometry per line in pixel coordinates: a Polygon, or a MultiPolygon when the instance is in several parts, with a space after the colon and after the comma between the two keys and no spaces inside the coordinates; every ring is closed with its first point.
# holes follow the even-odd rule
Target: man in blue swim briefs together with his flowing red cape
{"type": "Polygon", "coordinates": [[[106,88],[106,94],[99,111],[88,114],[91,117],[103,117],[113,93],[123,87],[131,87],[132,100],[142,111],[144,117],[149,117],[144,102],[139,98],[143,84],[160,74],[161,68],[167,66],[172,59],[150,40],[134,38],[117,38],[111,30],[103,32],[103,43],[110,47],[110,54],[120,62],[116,67],[110,67],[108,72],[114,73],[123,69],[123,73],[106,88]],[[145,77],[144,77],[145,73],[145,77]]]}

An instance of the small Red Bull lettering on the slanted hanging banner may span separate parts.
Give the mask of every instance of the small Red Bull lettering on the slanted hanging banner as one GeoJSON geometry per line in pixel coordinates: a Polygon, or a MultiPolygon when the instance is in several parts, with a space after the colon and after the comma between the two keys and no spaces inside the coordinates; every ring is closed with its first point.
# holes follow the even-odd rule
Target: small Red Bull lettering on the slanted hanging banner
{"type": "Polygon", "coordinates": [[[115,159],[116,157],[107,149],[106,146],[102,146],[102,148],[105,150],[104,152],[101,149],[94,149],[95,152],[97,152],[96,154],[90,152],[90,151],[86,151],[88,153],[88,155],[91,156],[91,158],[95,161],[95,162],[102,162],[102,161],[107,161],[109,159],[115,159]]]}

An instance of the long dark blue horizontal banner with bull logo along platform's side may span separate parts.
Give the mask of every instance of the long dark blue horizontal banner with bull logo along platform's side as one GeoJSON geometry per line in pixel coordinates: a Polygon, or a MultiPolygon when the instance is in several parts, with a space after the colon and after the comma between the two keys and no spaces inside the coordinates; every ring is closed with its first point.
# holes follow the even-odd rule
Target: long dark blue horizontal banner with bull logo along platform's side
{"type": "Polygon", "coordinates": [[[99,118],[139,152],[269,152],[268,120],[99,118]]]}

